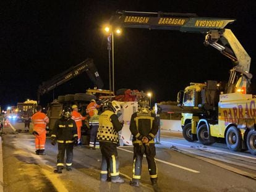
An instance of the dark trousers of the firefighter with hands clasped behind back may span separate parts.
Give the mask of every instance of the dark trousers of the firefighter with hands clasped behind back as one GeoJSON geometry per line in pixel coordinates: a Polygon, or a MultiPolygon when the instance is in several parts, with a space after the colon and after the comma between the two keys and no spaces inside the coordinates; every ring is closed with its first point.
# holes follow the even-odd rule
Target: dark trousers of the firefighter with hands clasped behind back
{"type": "Polygon", "coordinates": [[[148,161],[148,172],[150,173],[150,180],[157,180],[157,167],[155,162],[156,148],[155,143],[150,144],[134,144],[134,164],[132,180],[139,181],[142,173],[142,159],[143,154],[146,155],[148,161]]]}

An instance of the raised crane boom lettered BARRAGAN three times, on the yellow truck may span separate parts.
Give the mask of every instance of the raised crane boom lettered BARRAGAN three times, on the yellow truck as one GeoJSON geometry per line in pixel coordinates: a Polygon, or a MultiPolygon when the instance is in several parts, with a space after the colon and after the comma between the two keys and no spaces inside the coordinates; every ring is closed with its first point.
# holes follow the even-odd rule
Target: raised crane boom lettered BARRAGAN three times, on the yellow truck
{"type": "Polygon", "coordinates": [[[113,27],[148,28],[150,30],[177,30],[182,32],[203,33],[205,44],[218,49],[233,61],[226,93],[241,89],[243,82],[249,85],[252,74],[250,56],[233,32],[226,27],[234,19],[197,17],[195,14],[176,14],[164,12],[117,11],[109,20],[113,27]]]}

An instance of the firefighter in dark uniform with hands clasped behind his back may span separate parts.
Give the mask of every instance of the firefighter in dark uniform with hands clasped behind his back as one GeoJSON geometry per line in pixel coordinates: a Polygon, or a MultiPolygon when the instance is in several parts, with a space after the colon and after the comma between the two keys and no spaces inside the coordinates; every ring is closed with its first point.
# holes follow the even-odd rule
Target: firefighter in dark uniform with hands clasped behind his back
{"type": "Polygon", "coordinates": [[[139,186],[142,172],[142,158],[146,155],[148,171],[152,185],[157,183],[157,168],[155,162],[155,135],[158,132],[156,115],[150,111],[148,98],[141,98],[138,102],[139,110],[132,114],[130,119],[130,131],[133,135],[134,164],[130,185],[139,186]]]}

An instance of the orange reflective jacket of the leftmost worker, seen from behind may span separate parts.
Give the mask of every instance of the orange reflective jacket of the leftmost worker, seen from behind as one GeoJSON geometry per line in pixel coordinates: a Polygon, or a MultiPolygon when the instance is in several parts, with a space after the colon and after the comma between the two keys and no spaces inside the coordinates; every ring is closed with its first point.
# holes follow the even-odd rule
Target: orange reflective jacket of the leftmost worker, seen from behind
{"type": "Polygon", "coordinates": [[[46,131],[46,124],[49,123],[49,118],[43,112],[36,112],[31,117],[34,123],[34,130],[37,133],[43,133],[46,131]]]}

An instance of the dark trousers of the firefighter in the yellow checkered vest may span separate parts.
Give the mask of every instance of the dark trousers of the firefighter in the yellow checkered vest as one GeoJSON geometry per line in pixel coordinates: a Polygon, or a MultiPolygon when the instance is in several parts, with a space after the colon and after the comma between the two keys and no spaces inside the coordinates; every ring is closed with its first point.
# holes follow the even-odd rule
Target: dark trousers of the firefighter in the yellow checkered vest
{"type": "Polygon", "coordinates": [[[119,177],[119,160],[117,156],[117,144],[100,142],[100,151],[102,154],[100,178],[108,178],[108,171],[111,180],[119,177]]]}

